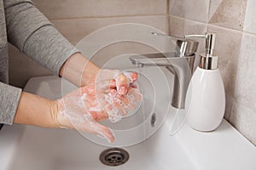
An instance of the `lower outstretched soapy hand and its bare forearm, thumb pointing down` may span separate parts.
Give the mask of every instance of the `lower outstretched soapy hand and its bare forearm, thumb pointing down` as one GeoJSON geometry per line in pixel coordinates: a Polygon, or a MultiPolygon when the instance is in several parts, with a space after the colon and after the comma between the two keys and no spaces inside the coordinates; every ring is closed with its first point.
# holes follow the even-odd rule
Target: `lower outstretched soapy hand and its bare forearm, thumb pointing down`
{"type": "Polygon", "coordinates": [[[127,94],[122,95],[117,92],[115,80],[110,84],[104,81],[92,81],[57,100],[22,92],[15,123],[75,128],[81,132],[99,134],[113,142],[112,131],[98,122],[106,118],[111,122],[119,121],[137,108],[143,96],[132,83],[127,94]]]}

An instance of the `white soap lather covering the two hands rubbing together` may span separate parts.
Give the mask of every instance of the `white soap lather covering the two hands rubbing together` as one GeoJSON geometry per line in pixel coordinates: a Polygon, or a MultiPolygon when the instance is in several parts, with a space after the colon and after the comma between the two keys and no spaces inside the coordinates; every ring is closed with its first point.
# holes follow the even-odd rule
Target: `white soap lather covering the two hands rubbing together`
{"type": "Polygon", "coordinates": [[[134,84],[136,80],[136,72],[102,69],[95,80],[57,100],[60,127],[95,133],[113,142],[111,129],[98,122],[106,118],[118,122],[140,105],[143,95],[134,84]]]}

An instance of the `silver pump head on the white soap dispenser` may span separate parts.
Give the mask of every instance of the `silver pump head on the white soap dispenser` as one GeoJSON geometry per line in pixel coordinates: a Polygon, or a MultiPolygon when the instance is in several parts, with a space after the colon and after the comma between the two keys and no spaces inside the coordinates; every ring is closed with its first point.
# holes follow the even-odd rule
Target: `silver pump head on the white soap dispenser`
{"type": "Polygon", "coordinates": [[[216,33],[206,33],[206,35],[188,35],[185,38],[204,38],[206,39],[206,53],[200,55],[200,67],[206,70],[218,68],[218,56],[213,55],[216,33]]]}

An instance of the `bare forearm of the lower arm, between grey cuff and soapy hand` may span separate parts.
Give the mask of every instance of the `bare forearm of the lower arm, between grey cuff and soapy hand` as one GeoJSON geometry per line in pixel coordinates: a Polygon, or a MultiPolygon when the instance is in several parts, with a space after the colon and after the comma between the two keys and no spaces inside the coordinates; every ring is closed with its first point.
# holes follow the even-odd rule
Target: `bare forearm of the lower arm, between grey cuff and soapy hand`
{"type": "Polygon", "coordinates": [[[57,112],[55,101],[22,92],[14,122],[39,127],[60,127],[56,120],[57,112]]]}

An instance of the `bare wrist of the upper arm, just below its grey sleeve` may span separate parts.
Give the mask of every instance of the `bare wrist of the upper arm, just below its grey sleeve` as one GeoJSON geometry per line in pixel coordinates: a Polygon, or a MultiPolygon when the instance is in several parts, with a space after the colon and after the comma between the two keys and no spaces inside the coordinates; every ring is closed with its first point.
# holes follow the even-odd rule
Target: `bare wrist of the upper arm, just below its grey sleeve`
{"type": "Polygon", "coordinates": [[[96,77],[100,68],[86,59],[82,54],[73,54],[61,66],[60,76],[78,87],[85,86],[87,82],[96,77]]]}

